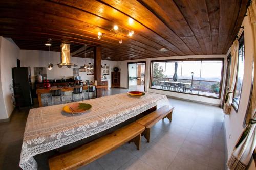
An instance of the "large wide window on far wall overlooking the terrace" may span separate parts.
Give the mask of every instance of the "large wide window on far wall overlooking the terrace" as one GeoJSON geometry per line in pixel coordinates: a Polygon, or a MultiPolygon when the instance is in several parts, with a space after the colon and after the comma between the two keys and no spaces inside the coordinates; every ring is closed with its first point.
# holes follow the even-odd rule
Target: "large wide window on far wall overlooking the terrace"
{"type": "Polygon", "coordinates": [[[220,98],[223,59],[152,61],[151,87],[220,98]]]}

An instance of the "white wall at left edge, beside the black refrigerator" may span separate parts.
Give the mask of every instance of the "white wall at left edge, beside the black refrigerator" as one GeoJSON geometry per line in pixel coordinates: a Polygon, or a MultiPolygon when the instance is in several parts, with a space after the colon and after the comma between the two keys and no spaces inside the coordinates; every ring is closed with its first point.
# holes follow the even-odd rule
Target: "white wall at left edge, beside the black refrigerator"
{"type": "Polygon", "coordinates": [[[11,40],[0,37],[0,119],[8,119],[14,109],[12,68],[17,66],[19,48],[11,40]]]}

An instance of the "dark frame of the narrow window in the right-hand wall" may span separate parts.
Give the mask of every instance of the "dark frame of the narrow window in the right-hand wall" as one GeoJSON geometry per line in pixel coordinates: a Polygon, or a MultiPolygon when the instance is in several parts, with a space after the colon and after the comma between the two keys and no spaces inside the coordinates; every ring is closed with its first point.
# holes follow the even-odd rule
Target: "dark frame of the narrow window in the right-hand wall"
{"type": "MultiPolygon", "coordinates": [[[[244,62],[245,62],[245,41],[244,41],[244,32],[241,34],[241,36],[239,37],[239,46],[238,46],[238,51],[240,49],[240,45],[243,43],[244,45],[244,62]],[[243,38],[243,41],[241,42],[241,39],[243,38]]],[[[239,56],[238,56],[238,62],[239,62],[239,56]]],[[[242,94],[242,90],[243,90],[243,82],[244,82],[244,77],[243,77],[243,81],[242,81],[242,85],[241,85],[241,94],[239,96],[239,103],[237,103],[235,100],[234,100],[234,93],[236,92],[236,89],[237,89],[237,81],[238,81],[238,67],[239,67],[239,63],[237,65],[237,75],[236,75],[236,84],[234,85],[234,90],[233,90],[233,99],[232,99],[232,107],[234,109],[234,111],[236,111],[236,113],[238,113],[238,109],[239,109],[239,105],[240,105],[240,100],[241,100],[241,94],[242,94]],[[234,105],[234,103],[237,104],[238,107],[236,107],[234,105]]],[[[243,72],[243,75],[244,75],[244,72],[243,72]]]]}

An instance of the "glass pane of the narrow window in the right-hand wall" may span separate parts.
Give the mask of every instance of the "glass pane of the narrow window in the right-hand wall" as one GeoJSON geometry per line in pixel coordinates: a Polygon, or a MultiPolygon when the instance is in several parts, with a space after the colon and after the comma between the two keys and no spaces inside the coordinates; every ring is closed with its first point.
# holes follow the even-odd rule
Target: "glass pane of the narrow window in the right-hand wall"
{"type": "Polygon", "coordinates": [[[241,91],[242,91],[242,83],[244,76],[244,44],[239,48],[239,56],[238,56],[238,73],[237,73],[237,82],[236,89],[234,91],[234,102],[239,105],[241,91]]]}

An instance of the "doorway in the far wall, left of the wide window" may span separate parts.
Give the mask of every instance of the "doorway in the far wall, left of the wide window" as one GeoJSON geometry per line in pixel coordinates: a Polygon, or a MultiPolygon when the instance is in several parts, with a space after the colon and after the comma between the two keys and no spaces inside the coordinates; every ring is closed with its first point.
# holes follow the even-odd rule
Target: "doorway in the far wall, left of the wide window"
{"type": "Polygon", "coordinates": [[[145,91],[146,62],[128,63],[127,87],[129,91],[145,91]]]}

